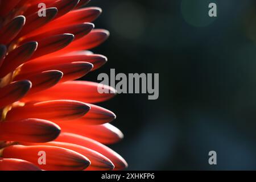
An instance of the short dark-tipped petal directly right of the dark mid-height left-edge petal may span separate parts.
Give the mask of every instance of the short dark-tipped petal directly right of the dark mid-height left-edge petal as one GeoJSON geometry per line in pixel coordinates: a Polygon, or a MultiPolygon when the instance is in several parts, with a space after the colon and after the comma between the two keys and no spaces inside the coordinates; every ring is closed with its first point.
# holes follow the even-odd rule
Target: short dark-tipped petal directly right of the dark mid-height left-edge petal
{"type": "Polygon", "coordinates": [[[28,94],[33,94],[42,90],[46,90],[56,85],[63,77],[63,73],[60,71],[45,71],[28,77],[27,79],[32,82],[32,88],[28,94]]]}

